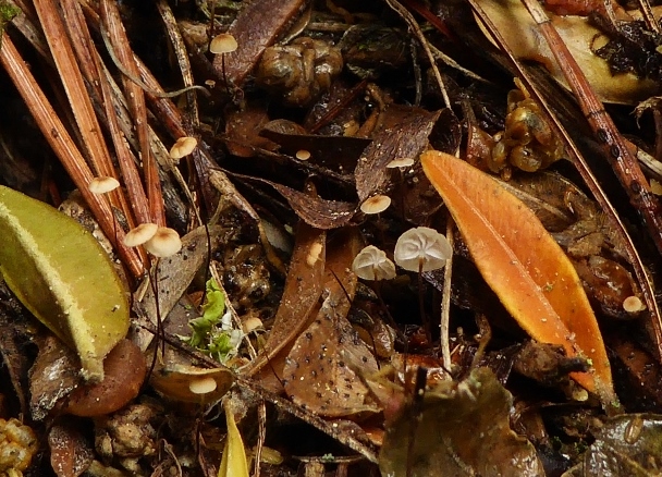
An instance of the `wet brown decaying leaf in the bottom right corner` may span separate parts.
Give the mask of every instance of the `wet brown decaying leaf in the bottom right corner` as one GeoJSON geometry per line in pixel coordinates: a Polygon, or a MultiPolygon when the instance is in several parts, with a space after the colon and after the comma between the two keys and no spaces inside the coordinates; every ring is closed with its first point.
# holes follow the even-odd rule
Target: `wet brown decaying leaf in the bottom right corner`
{"type": "Polygon", "coordinates": [[[608,420],[578,468],[566,477],[648,477],[660,475],[662,416],[626,414],[608,420]]]}

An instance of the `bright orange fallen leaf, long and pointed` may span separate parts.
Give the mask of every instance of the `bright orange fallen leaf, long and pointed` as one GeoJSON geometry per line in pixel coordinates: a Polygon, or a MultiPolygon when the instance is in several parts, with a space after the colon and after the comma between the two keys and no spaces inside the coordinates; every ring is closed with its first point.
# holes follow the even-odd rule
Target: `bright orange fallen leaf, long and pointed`
{"type": "Polygon", "coordinates": [[[591,372],[571,377],[604,405],[616,402],[596,316],[573,265],[536,215],[497,181],[444,152],[420,156],[486,282],[535,340],[584,356],[591,372]]]}

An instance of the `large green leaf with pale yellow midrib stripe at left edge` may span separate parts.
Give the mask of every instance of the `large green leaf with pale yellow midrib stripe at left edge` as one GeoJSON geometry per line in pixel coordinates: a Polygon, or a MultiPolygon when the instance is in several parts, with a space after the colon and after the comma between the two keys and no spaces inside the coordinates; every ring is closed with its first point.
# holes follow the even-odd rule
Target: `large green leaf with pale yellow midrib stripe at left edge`
{"type": "Polygon", "coordinates": [[[128,302],[113,265],[75,220],[0,186],[0,272],[23,304],[73,347],[85,379],[128,331],[128,302]]]}

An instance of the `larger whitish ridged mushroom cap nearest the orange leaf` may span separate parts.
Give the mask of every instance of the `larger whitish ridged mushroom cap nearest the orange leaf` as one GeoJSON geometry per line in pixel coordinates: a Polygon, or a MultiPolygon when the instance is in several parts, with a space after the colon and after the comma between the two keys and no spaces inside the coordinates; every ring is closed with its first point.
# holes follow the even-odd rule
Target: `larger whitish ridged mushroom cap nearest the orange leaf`
{"type": "Polygon", "coordinates": [[[403,233],[395,244],[395,262],[409,271],[430,271],[443,268],[453,256],[446,237],[434,229],[417,227],[403,233]]]}

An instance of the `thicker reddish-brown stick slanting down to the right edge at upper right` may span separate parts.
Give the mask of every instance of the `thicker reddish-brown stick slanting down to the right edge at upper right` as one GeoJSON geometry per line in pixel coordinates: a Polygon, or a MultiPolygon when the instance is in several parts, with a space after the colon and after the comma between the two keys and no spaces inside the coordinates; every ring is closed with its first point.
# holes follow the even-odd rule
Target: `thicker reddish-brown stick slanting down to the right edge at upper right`
{"type": "Polygon", "coordinates": [[[540,27],[565,80],[577,98],[581,112],[625,188],[632,205],[643,217],[651,237],[662,254],[662,206],[651,192],[650,184],[641,172],[637,158],[626,146],[623,136],[604,110],[602,102],[596,97],[577,61],[568,51],[559,32],[552,26],[547,13],[535,0],[522,1],[540,27]]]}

